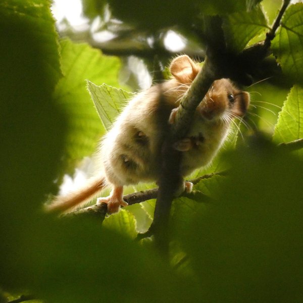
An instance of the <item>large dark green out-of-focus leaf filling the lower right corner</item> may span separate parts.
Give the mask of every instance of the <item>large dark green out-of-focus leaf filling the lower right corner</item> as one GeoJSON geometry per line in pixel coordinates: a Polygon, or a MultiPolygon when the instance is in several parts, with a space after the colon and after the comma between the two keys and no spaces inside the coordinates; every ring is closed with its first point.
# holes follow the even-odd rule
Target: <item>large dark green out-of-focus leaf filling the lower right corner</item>
{"type": "Polygon", "coordinates": [[[216,188],[217,203],[198,204],[179,233],[202,297],[302,300],[303,163],[263,140],[225,156],[233,169],[216,188]]]}

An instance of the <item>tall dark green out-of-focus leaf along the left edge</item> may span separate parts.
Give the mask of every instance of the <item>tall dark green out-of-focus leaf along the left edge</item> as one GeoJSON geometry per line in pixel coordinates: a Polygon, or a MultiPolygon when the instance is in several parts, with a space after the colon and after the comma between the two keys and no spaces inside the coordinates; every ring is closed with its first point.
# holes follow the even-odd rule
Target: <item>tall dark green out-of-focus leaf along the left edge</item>
{"type": "Polygon", "coordinates": [[[23,286],[24,232],[36,232],[66,133],[52,98],[61,71],[49,4],[0,3],[0,284],[8,288],[23,286]]]}

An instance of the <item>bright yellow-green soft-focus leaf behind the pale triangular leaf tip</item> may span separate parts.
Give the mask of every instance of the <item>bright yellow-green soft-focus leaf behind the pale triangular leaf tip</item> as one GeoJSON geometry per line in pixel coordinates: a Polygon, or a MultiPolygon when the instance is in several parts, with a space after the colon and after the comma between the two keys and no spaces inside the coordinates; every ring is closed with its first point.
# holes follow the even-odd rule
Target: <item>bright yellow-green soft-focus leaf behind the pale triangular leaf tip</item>
{"type": "Polygon", "coordinates": [[[72,162],[90,155],[103,133],[96,110],[86,89],[85,79],[97,84],[106,82],[119,86],[120,61],[102,55],[88,44],[61,41],[61,64],[64,78],[55,91],[55,97],[68,116],[69,132],[66,143],[66,159],[72,162]]]}

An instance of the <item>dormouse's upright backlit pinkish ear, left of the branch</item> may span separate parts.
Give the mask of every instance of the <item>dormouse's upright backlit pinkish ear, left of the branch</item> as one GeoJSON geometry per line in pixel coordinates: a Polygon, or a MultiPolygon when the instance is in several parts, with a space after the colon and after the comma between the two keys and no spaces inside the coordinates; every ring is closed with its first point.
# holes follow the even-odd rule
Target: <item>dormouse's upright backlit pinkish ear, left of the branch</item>
{"type": "Polygon", "coordinates": [[[191,83],[200,67],[196,65],[187,55],[182,55],[175,58],[170,66],[171,74],[180,83],[191,83]]]}

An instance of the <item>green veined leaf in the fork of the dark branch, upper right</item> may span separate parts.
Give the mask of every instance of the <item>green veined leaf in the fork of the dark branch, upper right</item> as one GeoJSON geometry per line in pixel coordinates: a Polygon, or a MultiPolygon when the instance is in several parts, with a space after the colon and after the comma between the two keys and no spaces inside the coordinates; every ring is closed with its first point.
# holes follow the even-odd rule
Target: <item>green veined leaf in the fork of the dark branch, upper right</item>
{"type": "Polygon", "coordinates": [[[250,12],[229,15],[224,20],[223,29],[228,47],[239,53],[250,39],[264,33],[269,27],[261,7],[257,6],[250,12]]]}

